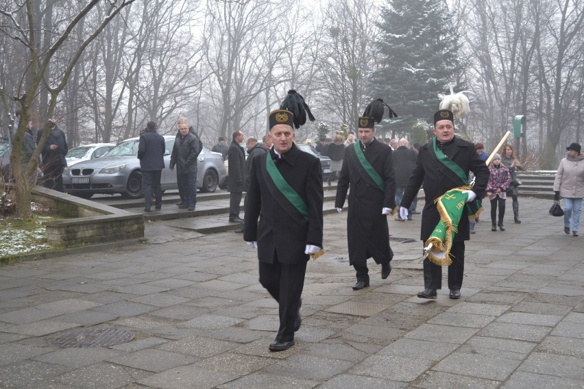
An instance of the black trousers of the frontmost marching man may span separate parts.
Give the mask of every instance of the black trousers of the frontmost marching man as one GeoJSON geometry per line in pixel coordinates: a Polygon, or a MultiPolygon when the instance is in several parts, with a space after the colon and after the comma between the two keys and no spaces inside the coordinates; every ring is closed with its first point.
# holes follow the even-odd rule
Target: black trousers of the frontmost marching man
{"type": "Polygon", "coordinates": [[[276,253],[273,264],[260,262],[260,284],[279,305],[280,329],[276,335],[278,342],[294,339],[294,322],[300,309],[306,263],[281,264],[276,253]]]}

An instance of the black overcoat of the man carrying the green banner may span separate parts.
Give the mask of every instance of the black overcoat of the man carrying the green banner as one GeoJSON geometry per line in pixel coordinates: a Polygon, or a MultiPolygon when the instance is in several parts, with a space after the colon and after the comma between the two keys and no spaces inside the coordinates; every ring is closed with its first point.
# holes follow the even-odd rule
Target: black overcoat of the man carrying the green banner
{"type": "MultiPolygon", "coordinates": [[[[471,142],[467,142],[457,136],[454,136],[453,142],[454,145],[448,147],[446,156],[460,166],[465,175],[468,176],[470,171],[474,173],[476,181],[472,190],[476,193],[476,198],[480,199],[483,197],[489,182],[489,168],[485,165],[485,161],[480,159],[480,155],[476,153],[476,149],[471,142]]],[[[422,211],[422,229],[420,234],[420,239],[424,242],[430,238],[430,234],[432,234],[440,221],[440,215],[434,203],[435,199],[448,192],[448,190],[458,188],[462,184],[460,181],[454,181],[450,174],[444,173],[448,168],[437,162],[430,155],[429,147],[433,148],[432,142],[426,143],[426,145],[419,149],[416,166],[410,176],[408,186],[406,186],[406,190],[404,191],[401,204],[402,207],[409,208],[420,186],[424,184],[426,204],[422,211]]],[[[465,207],[459,222],[459,231],[454,236],[454,241],[460,242],[469,239],[468,212],[465,207]]]]}

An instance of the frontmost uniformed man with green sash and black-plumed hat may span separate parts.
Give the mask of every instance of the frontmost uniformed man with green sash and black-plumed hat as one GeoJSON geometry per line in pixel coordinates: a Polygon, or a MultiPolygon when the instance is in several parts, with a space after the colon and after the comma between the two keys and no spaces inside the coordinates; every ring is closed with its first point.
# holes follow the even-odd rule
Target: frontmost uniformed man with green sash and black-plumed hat
{"type": "MultiPolygon", "coordinates": [[[[251,247],[257,247],[260,284],[279,304],[280,329],[276,340],[269,345],[270,351],[283,351],[294,345],[294,331],[300,328],[300,296],[306,262],[309,254],[317,253],[322,247],[320,162],[300,151],[294,143],[293,126],[297,128],[306,122],[306,114],[302,121],[303,115],[295,109],[295,101],[300,99],[291,90],[282,109],[269,114],[273,147],[252,160],[245,205],[243,239],[251,247]],[[282,184],[295,193],[282,191],[282,184]],[[293,205],[291,199],[300,205],[293,205]]],[[[311,114],[309,117],[314,120],[311,114]]]]}

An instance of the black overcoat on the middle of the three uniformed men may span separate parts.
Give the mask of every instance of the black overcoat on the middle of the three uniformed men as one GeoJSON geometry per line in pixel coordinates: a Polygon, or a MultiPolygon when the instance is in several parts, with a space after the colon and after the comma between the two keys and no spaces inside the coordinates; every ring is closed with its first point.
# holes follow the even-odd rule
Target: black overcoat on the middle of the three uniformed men
{"type": "Polygon", "coordinates": [[[343,208],[349,186],[349,211],[347,234],[350,264],[365,264],[373,257],[376,263],[386,263],[393,258],[389,247],[387,216],[382,208],[396,207],[396,178],[393,171],[391,149],[374,139],[363,151],[365,159],[385,182],[385,192],[362,171],[353,145],[345,149],[345,158],[337,183],[335,208],[343,208]]]}

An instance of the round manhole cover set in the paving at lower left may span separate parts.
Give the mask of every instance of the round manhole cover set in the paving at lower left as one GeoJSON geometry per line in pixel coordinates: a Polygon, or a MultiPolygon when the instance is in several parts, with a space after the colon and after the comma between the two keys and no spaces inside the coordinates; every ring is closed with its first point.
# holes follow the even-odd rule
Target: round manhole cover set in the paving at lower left
{"type": "Polygon", "coordinates": [[[66,332],[51,341],[53,346],[69,349],[76,347],[88,349],[90,347],[108,347],[114,344],[129,342],[134,339],[134,333],[125,329],[114,328],[86,328],[66,332]]]}

